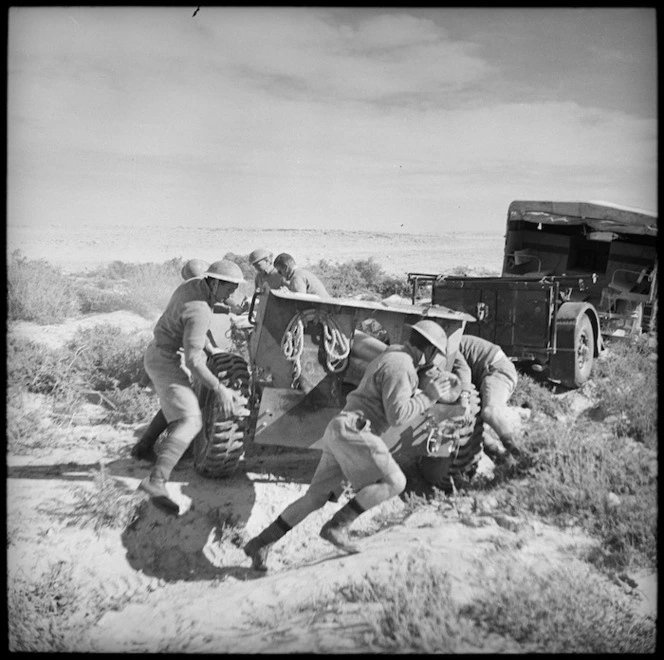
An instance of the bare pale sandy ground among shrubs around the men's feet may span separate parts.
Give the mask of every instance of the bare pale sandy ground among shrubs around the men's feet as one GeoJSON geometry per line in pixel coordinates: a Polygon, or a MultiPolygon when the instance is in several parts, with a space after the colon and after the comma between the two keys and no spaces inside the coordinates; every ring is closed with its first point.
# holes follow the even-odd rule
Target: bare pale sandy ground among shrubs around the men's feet
{"type": "MultiPolygon", "coordinates": [[[[29,323],[14,324],[9,331],[47,338],[57,346],[77,327],[98,322],[133,333],[149,332],[152,326],[129,312],[114,312],[72,320],[46,332],[29,323]]],[[[583,402],[577,405],[579,414],[584,407],[583,402]]],[[[496,510],[490,496],[450,499],[386,526],[381,521],[404,507],[397,498],[356,522],[354,536],[362,552],[341,556],[318,537],[320,526],[340,506],[329,503],[275,546],[267,575],[257,574],[238,540],[229,541],[228,523],[232,521],[246,539],[271,522],[306,489],[316,467],[315,451],[254,450],[239,472],[223,481],[201,477],[190,460],[183,460],[171,484],[183,503],[178,518],[146,504],[130,528],[97,533],[67,524],[76,494],[94,491],[93,478],[103,464],[120,487],[142,498],[136,487],[149,465],[129,455],[141,426],[96,423],[94,405],[84,413],[68,446],[7,456],[8,580],[39,576],[58,562],[71,567],[72,585],[84,605],[80,620],[70,622],[67,651],[376,651],[380,649],[373,646],[365,613],[335,600],[339,585],[403,566],[411,556],[425,556],[449,572],[452,597],[463,603],[482,590],[478,566],[490,567],[498,548],[509,548],[515,565],[571,568],[582,563],[584,550],[594,543],[574,528],[509,518],[496,510]],[[307,606],[327,598],[338,606],[312,616],[307,606]]],[[[515,422],[527,420],[515,413],[515,422]]],[[[488,459],[484,465],[490,471],[488,459]]],[[[616,598],[628,598],[644,615],[656,617],[656,576],[630,579],[631,586],[607,580],[607,589],[616,598]]],[[[527,649],[487,637],[459,651],[527,649]]]]}

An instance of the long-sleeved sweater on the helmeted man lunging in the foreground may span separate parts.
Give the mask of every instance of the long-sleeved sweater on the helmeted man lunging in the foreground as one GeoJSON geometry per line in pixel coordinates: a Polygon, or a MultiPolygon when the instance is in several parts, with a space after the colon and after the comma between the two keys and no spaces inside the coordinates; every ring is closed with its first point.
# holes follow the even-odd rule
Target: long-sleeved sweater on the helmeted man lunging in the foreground
{"type": "Polygon", "coordinates": [[[344,410],[364,412],[372,432],[381,435],[390,426],[404,424],[431,408],[434,401],[417,389],[413,357],[404,346],[389,346],[369,363],[344,410]]]}

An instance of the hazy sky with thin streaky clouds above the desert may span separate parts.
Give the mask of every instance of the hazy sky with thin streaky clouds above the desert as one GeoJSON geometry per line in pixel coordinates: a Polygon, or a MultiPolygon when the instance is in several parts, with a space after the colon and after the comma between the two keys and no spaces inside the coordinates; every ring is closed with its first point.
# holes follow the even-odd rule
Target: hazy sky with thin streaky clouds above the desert
{"type": "Polygon", "coordinates": [[[653,8],[11,7],[8,224],[502,232],[657,211],[653,8]]]}

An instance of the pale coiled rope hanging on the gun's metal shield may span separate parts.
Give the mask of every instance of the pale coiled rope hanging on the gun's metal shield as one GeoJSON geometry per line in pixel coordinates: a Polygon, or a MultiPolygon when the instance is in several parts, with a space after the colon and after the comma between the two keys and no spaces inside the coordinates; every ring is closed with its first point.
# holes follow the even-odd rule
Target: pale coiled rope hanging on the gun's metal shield
{"type": "Polygon", "coordinates": [[[323,328],[323,347],[325,348],[325,369],[329,373],[339,373],[348,366],[350,339],[344,335],[336,318],[319,309],[307,309],[297,312],[290,320],[284,336],[281,338],[281,350],[284,357],[293,363],[292,388],[299,383],[302,365],[300,359],[304,349],[304,330],[311,323],[319,323],[323,328]]]}

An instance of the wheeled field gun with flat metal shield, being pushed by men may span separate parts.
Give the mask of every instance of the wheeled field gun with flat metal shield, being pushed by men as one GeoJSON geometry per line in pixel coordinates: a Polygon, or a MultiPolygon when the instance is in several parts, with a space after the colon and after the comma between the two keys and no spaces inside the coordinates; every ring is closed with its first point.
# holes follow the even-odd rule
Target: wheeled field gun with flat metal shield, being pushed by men
{"type": "MultiPolygon", "coordinates": [[[[409,325],[427,318],[443,327],[449,358],[439,366],[449,370],[472,320],[441,305],[323,299],[285,290],[261,294],[252,317],[248,359],[220,349],[208,358],[220,381],[247,399],[249,414],[225,419],[214,394],[199,388],[204,424],[193,454],[196,470],[207,477],[232,474],[247,443],[320,448],[327,423],[343,408],[369,361],[389,344],[407,339],[409,325]]],[[[218,346],[222,341],[216,337],[218,346]]],[[[391,429],[385,441],[397,460],[413,458],[427,481],[447,487],[450,478],[471,470],[480,457],[483,424],[476,391],[471,410],[468,422],[460,405],[436,403],[427,414],[391,429]]]]}

